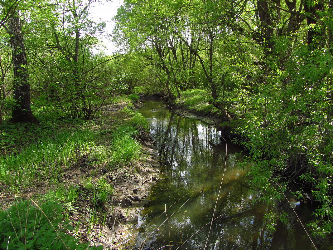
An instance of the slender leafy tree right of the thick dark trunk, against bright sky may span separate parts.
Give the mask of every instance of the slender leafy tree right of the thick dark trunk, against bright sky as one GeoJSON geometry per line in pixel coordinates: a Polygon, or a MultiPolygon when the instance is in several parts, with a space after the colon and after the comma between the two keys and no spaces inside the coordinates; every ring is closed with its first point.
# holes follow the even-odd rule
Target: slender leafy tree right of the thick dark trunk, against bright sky
{"type": "Polygon", "coordinates": [[[30,39],[35,49],[29,53],[39,62],[35,67],[47,78],[41,92],[72,118],[93,118],[96,108],[101,107],[97,100],[103,102],[110,95],[105,74],[107,63],[116,55],[91,52],[98,43],[96,35],[105,27],[105,23],[90,19],[89,8],[94,2],[59,1],[50,6],[40,13],[47,21],[35,26],[35,36],[30,39]]]}

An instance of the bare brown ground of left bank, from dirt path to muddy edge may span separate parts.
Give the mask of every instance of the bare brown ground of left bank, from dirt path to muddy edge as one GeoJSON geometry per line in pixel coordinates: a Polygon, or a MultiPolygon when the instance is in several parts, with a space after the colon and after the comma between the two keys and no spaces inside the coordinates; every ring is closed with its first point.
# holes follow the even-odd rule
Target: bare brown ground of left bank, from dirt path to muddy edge
{"type": "MultiPolygon", "coordinates": [[[[132,108],[132,107],[131,107],[132,108]]],[[[90,123],[88,128],[98,134],[95,147],[112,148],[112,133],[126,124],[133,114],[128,110],[128,102],[117,103],[101,108],[101,115],[90,123]]],[[[67,129],[62,125],[62,129],[67,129]]],[[[158,163],[152,140],[145,131],[140,131],[136,139],[141,144],[141,155],[136,162],[110,168],[109,162],[91,162],[89,155],[77,155],[69,167],[63,167],[59,178],[36,180],[33,185],[13,189],[0,183],[0,209],[9,208],[19,200],[32,199],[38,203],[40,197],[65,189],[77,193],[73,202],[63,198],[64,218],[73,230],[69,234],[80,238],[81,242],[103,245],[104,249],[125,249],[127,243],[137,243],[132,228],[137,225],[139,212],[147,203],[150,188],[158,180],[158,163]],[[101,183],[111,187],[106,199],[98,199],[101,183]]],[[[140,244],[140,243],[139,243],[140,244]]]]}

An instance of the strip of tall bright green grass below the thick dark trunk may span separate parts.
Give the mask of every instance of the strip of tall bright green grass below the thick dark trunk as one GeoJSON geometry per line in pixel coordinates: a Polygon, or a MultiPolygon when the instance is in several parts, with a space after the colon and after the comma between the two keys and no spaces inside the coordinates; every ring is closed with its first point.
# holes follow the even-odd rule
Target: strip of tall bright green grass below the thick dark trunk
{"type": "Polygon", "coordinates": [[[19,153],[0,158],[0,182],[10,187],[26,187],[36,179],[59,177],[62,167],[68,167],[78,154],[94,146],[93,134],[88,130],[63,132],[55,138],[32,143],[19,153]]]}

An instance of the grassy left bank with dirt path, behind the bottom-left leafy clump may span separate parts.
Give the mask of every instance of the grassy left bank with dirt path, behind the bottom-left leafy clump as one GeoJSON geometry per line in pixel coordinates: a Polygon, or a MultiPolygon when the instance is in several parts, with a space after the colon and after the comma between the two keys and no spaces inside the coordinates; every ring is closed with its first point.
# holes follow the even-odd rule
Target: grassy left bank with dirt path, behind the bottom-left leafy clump
{"type": "Polygon", "coordinates": [[[137,139],[145,134],[146,120],[126,96],[103,106],[92,121],[59,120],[46,109],[35,108],[40,124],[0,127],[1,208],[27,197],[56,201],[63,205],[63,219],[71,221],[70,234],[99,241],[114,216],[114,188],[121,178],[117,184],[112,179],[138,171],[143,150],[137,139]]]}

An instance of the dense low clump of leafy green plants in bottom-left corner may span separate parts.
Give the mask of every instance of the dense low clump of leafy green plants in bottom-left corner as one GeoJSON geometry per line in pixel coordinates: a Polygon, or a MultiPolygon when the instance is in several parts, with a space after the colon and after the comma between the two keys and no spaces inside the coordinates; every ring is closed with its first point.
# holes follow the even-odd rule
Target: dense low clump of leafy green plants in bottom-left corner
{"type": "Polygon", "coordinates": [[[19,202],[0,213],[0,249],[98,249],[89,243],[78,244],[78,239],[59,227],[62,206],[45,201],[34,206],[29,200],[19,202]]]}

